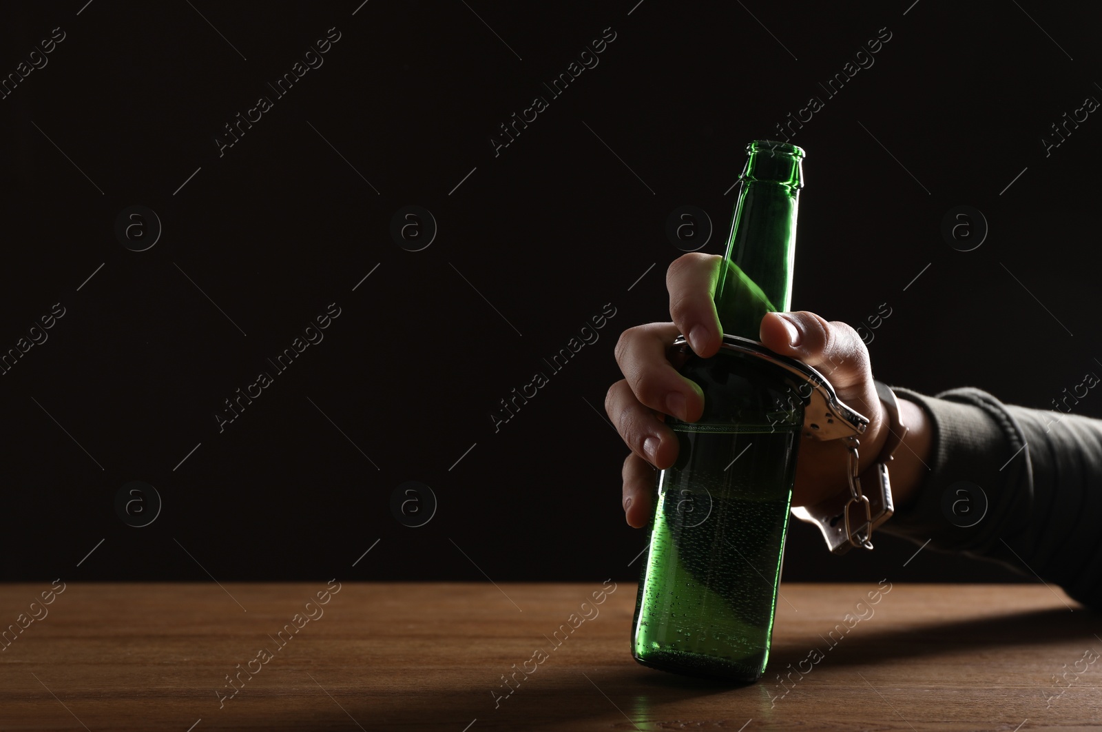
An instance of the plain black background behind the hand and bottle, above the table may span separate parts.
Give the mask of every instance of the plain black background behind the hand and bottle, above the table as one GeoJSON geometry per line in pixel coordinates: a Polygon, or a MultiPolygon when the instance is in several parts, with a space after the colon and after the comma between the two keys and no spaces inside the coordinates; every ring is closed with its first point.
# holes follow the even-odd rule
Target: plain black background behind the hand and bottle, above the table
{"type": "MultiPolygon", "coordinates": [[[[85,2],[0,24],[3,75],[66,33],[0,100],[0,349],[65,308],[0,377],[3,579],[634,579],[613,347],[669,319],[670,212],[707,212],[722,252],[746,142],[812,95],[793,310],[860,325],[886,302],[876,374],[926,394],[1047,409],[1102,355],[1100,112],[1041,142],[1102,95],[1087,4],[85,2]],[[276,98],[266,82],[331,28],[276,98]],[[817,83],[884,28],[828,98],[817,83]],[[604,29],[599,64],[550,98],[604,29]],[[134,204],[163,226],[141,252],[115,235],[134,204]],[[389,233],[410,204],[439,225],[421,251],[389,233]],[[990,226],[975,250],[941,236],[958,205],[990,226]],[[324,341],[219,432],[223,401],[333,302],[324,341]],[[599,341],[495,433],[498,400],[605,303],[599,341]],[[149,526],[116,513],[130,481],[163,500],[149,526]],[[439,502],[418,528],[391,510],[407,481],[439,502]]],[[[785,578],[1016,577],[933,551],[900,570],[916,549],[838,558],[797,521],[785,578]]]]}

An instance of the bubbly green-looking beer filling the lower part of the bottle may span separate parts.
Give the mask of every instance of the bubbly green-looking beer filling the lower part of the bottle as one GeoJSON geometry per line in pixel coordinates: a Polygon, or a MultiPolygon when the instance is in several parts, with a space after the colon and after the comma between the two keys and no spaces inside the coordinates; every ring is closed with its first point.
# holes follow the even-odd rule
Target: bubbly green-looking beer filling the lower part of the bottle
{"type": "Polygon", "coordinates": [[[690,458],[691,482],[684,470],[665,472],[635,655],[688,674],[733,668],[757,678],[769,656],[789,509],[788,496],[775,495],[767,481],[797,435],[761,427],[683,434],[694,455],[734,451],[748,469],[701,470],[705,456],[690,458]]]}

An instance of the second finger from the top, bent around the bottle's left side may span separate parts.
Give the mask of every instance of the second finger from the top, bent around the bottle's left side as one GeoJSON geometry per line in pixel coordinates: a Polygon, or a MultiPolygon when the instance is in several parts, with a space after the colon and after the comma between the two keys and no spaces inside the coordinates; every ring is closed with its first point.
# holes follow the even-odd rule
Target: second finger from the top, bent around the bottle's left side
{"type": "MultiPolygon", "coordinates": [[[[616,343],[616,363],[642,405],[685,422],[694,422],[704,411],[701,388],[678,374],[666,349],[677,337],[673,323],[648,323],[630,327],[616,343]]],[[[606,409],[608,401],[605,401],[606,409]]],[[[613,412],[608,412],[613,417],[613,412]]],[[[616,419],[613,419],[616,423],[616,419]]]]}

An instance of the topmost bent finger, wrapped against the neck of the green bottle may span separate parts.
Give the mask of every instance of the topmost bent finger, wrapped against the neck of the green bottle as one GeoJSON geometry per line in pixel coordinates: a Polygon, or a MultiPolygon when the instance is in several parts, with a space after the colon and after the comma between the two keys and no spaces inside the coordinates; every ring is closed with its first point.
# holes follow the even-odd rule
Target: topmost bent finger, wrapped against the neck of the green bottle
{"type": "Polygon", "coordinates": [[[722,331],[715,315],[715,286],[720,279],[723,257],[690,251],[670,263],[666,272],[666,289],[670,292],[670,317],[678,332],[689,338],[689,345],[700,356],[715,355],[722,331]]]}

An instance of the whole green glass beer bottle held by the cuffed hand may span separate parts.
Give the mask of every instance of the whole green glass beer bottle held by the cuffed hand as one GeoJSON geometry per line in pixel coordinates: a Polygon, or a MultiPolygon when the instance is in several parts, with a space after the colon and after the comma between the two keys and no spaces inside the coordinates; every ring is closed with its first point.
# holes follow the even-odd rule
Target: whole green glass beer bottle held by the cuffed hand
{"type": "MultiPolygon", "coordinates": [[[[725,343],[759,344],[766,312],[789,309],[800,148],[757,140],[748,158],[715,290],[725,343]]],[[[631,633],[640,664],[755,681],[769,658],[804,400],[791,375],[723,347],[682,346],[679,372],[700,385],[696,422],[666,423],[680,443],[658,476],[631,633]]]]}

